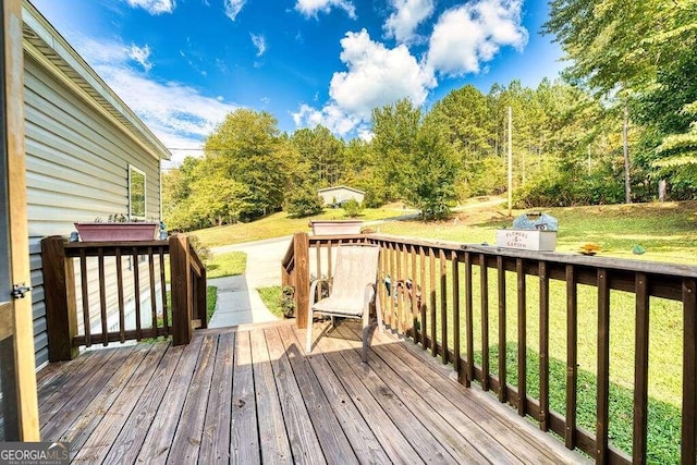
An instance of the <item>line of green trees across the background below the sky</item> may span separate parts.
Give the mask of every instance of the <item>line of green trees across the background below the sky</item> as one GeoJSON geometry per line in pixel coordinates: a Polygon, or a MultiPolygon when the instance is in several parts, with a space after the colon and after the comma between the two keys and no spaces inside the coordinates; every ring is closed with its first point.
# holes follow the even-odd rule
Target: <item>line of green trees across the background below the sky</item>
{"type": "Polygon", "coordinates": [[[505,192],[508,108],[519,207],[694,198],[697,192],[695,3],[555,0],[546,33],[570,59],[563,78],[488,94],[466,85],[430,109],[376,108],[370,140],[328,129],[278,129],[240,109],[204,157],[163,175],[168,227],[191,230],[285,209],[321,208],[317,191],[348,185],[364,206],[401,200],[425,218],[505,192]],[[663,186],[663,188],[660,188],[663,186]]]}

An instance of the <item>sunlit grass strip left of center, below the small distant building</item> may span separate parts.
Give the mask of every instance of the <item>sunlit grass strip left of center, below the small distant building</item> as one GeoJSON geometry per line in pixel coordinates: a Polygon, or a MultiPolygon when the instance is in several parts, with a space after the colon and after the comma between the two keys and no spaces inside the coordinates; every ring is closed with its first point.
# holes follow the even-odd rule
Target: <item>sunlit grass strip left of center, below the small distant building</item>
{"type": "MultiPolygon", "coordinates": [[[[366,208],[358,216],[358,220],[374,221],[386,218],[393,218],[404,212],[395,207],[366,208]]],[[[308,224],[311,220],[344,220],[344,210],[326,209],[322,213],[309,218],[289,218],[288,213],[280,211],[269,215],[260,220],[250,223],[236,223],[225,227],[208,228],[193,231],[200,241],[208,247],[219,245],[239,244],[242,242],[259,241],[265,238],[281,237],[291,235],[297,231],[309,231],[308,224]]]]}

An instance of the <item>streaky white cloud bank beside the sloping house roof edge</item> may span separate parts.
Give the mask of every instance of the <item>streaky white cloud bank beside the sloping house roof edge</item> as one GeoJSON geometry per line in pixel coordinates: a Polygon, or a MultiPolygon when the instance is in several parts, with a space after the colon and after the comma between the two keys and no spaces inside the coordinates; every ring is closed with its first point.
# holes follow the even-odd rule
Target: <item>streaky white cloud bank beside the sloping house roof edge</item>
{"type": "MultiPolygon", "coordinates": [[[[206,97],[180,83],[148,78],[129,64],[131,51],[123,44],[85,37],[71,37],[71,42],[166,147],[200,148],[225,115],[239,108],[220,96],[206,97]]],[[[169,164],[181,163],[186,155],[201,154],[175,150],[169,164]]]]}

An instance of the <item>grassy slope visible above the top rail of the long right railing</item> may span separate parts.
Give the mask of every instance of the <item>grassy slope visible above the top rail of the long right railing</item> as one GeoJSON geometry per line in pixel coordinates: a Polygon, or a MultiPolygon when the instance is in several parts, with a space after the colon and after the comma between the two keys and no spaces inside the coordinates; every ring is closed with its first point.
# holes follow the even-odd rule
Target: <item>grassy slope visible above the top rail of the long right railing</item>
{"type": "MultiPolygon", "coordinates": [[[[526,210],[531,211],[531,210],[526,210]]],[[[599,255],[697,265],[697,201],[548,208],[559,220],[558,252],[600,245],[599,255]],[[646,253],[634,255],[639,244],[646,253]]],[[[523,211],[513,211],[513,217],[523,211]]],[[[380,224],[382,233],[470,244],[496,244],[494,231],[511,227],[504,209],[466,210],[440,222],[400,221],[380,224]],[[456,220],[455,220],[456,218],[456,220]]]]}

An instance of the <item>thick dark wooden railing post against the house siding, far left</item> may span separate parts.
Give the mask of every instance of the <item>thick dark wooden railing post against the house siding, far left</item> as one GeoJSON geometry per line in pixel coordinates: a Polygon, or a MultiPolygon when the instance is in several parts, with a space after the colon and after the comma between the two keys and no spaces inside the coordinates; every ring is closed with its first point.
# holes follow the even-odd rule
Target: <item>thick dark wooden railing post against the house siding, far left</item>
{"type": "Polygon", "coordinates": [[[77,334],[75,271],[73,260],[66,259],[60,235],[41,241],[41,266],[46,299],[48,358],[50,362],[71,360],[78,350],[73,345],[77,334]]]}

